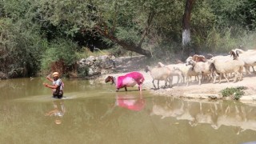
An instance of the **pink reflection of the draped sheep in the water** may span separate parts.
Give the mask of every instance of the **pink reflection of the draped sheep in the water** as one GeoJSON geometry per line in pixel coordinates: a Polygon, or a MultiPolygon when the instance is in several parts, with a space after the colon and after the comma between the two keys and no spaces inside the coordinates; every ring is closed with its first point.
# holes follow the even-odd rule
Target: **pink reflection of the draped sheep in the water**
{"type": "Polygon", "coordinates": [[[145,104],[145,99],[142,96],[135,97],[134,95],[118,95],[116,98],[116,106],[124,107],[129,110],[142,110],[145,104]]]}

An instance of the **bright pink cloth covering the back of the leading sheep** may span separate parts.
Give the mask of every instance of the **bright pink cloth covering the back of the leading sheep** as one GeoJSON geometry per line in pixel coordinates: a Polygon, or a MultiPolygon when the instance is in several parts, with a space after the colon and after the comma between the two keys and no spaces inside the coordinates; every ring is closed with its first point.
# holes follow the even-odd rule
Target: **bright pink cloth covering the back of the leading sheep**
{"type": "Polygon", "coordinates": [[[119,76],[116,80],[116,88],[121,89],[123,87],[132,87],[138,84],[138,86],[142,85],[144,82],[143,74],[139,72],[130,72],[126,75],[119,76]]]}

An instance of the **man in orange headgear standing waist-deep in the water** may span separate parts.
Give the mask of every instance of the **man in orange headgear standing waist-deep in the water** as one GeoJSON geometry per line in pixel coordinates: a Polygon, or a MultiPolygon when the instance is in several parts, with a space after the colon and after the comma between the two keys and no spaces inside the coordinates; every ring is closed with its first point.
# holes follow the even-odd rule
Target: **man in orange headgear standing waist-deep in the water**
{"type": "Polygon", "coordinates": [[[49,87],[53,90],[53,97],[54,98],[62,98],[63,96],[63,87],[64,83],[59,78],[58,72],[54,72],[53,78],[50,78],[49,76],[46,77],[50,82],[53,82],[52,85],[48,85],[47,83],[43,83],[44,86],[49,87]]]}

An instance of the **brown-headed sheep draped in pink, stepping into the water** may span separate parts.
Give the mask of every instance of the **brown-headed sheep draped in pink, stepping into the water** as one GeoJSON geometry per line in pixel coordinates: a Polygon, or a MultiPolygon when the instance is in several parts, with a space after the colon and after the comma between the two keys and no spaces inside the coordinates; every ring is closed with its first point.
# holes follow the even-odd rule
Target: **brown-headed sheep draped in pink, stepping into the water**
{"type": "Polygon", "coordinates": [[[133,87],[138,84],[138,90],[142,91],[142,83],[144,82],[143,74],[139,72],[130,72],[126,75],[118,76],[117,78],[113,76],[108,76],[105,79],[105,82],[112,82],[116,86],[116,91],[119,89],[125,88],[127,91],[127,87],[133,87]]]}

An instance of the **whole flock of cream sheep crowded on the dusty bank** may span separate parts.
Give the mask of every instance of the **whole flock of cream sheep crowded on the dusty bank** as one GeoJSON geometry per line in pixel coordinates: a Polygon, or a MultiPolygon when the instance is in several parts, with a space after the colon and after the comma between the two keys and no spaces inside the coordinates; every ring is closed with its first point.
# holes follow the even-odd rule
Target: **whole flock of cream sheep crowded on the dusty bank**
{"type": "MultiPolygon", "coordinates": [[[[237,82],[238,79],[241,81],[243,74],[251,74],[250,67],[254,71],[256,50],[234,49],[230,50],[229,54],[226,56],[207,55],[207,57],[195,54],[187,58],[185,63],[165,66],[162,62],[158,62],[158,66],[146,66],[145,70],[150,71],[153,85],[154,80],[158,81],[158,89],[159,81],[165,81],[165,86],[169,82],[172,87],[174,77],[178,77],[177,83],[186,82],[186,86],[189,86],[192,76],[198,79],[198,85],[201,85],[202,80],[215,83],[216,78],[219,78],[220,83],[222,76],[226,78],[226,82],[230,82],[230,78],[233,77],[233,82],[237,82]]],[[[154,85],[154,88],[157,87],[154,85]]]]}

